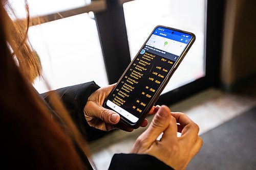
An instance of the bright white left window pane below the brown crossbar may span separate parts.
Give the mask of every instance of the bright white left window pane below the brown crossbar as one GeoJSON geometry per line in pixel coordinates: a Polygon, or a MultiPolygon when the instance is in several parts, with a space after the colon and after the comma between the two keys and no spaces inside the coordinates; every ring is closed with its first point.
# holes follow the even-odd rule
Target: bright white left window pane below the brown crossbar
{"type": "MultiPolygon", "coordinates": [[[[88,81],[109,84],[96,23],[88,13],[30,27],[29,40],[52,89],[88,81]]],[[[34,87],[48,91],[40,79],[34,87]]]]}

